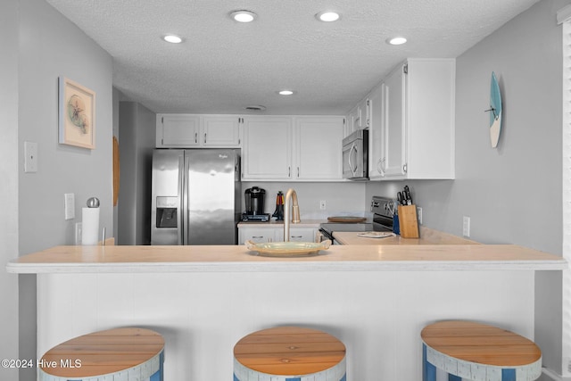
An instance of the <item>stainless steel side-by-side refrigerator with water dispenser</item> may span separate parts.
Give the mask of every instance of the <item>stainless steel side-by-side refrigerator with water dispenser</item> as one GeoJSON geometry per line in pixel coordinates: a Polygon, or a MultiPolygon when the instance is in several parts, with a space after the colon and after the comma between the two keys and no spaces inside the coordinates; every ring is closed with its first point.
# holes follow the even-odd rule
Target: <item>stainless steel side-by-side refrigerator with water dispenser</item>
{"type": "Polygon", "coordinates": [[[154,150],[151,244],[237,244],[241,193],[236,150],[154,150]]]}

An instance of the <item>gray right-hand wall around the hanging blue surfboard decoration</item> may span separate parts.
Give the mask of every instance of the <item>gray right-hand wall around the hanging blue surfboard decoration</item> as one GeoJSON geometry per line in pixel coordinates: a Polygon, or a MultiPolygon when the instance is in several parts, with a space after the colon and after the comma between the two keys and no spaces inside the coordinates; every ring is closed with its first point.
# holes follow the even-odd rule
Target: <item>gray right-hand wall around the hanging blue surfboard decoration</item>
{"type": "MultiPolygon", "coordinates": [[[[569,1],[544,0],[457,59],[456,179],[372,183],[371,195],[408,184],[423,222],[487,244],[521,244],[562,253],[562,56],[556,12],[569,1]],[[490,76],[504,105],[500,144],[488,133],[490,76]]],[[[544,366],[561,369],[561,274],[536,276],[535,341],[544,366]]]]}

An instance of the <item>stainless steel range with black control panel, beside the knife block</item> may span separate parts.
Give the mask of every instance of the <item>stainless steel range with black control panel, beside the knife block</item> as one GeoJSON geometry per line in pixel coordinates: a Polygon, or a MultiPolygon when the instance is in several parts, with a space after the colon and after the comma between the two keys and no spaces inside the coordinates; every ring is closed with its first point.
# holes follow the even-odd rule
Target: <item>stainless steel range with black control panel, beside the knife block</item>
{"type": "Polygon", "coordinates": [[[334,237],[335,232],[364,232],[364,231],[393,231],[394,200],[386,197],[373,196],[371,200],[373,222],[327,222],[321,224],[319,232],[323,239],[331,240],[332,244],[339,244],[334,237]]]}

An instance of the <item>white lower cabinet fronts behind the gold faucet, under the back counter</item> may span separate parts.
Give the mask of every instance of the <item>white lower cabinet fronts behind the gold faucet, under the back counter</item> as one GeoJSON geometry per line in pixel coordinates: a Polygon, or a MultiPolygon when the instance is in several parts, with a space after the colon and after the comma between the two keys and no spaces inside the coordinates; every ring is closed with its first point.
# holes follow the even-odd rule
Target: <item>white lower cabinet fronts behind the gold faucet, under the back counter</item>
{"type": "MultiPolygon", "coordinates": [[[[297,242],[316,242],[318,228],[295,228],[290,225],[290,241],[297,242]]],[[[283,242],[284,227],[282,225],[256,227],[252,224],[252,228],[238,228],[238,243],[244,244],[246,241],[252,241],[256,244],[264,242],[283,242]]]]}

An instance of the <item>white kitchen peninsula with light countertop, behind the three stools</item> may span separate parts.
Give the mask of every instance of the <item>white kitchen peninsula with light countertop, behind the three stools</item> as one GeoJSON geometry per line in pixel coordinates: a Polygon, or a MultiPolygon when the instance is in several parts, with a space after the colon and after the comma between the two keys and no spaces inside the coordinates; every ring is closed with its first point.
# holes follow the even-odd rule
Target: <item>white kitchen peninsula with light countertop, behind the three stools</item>
{"type": "Polygon", "coordinates": [[[515,245],[339,245],[267,258],[244,246],[57,246],[9,262],[37,274],[38,356],[73,336],[148,327],[167,379],[232,377],[255,330],[315,327],[347,347],[347,377],[420,379],[419,333],[470,319],[533,340],[534,271],[561,257],[515,245]]]}

